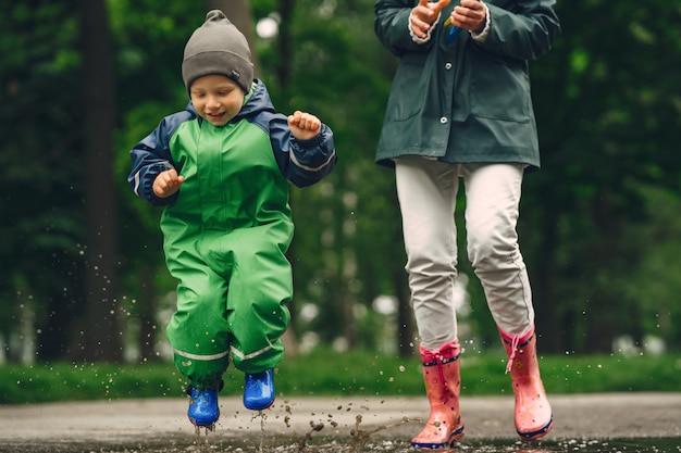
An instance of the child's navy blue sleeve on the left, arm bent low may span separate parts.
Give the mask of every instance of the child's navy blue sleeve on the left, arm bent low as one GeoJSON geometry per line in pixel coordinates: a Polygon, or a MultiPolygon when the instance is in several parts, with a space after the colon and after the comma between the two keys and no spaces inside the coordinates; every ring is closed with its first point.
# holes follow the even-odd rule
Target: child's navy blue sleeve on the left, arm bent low
{"type": "Polygon", "coordinates": [[[177,193],[168,198],[157,197],[153,193],[153,181],[166,169],[175,168],[179,173],[170,152],[170,139],[183,122],[193,117],[194,115],[187,111],[164,117],[151,134],[131,150],[133,166],[127,183],[143,200],[161,206],[172,203],[177,198],[177,193]]]}

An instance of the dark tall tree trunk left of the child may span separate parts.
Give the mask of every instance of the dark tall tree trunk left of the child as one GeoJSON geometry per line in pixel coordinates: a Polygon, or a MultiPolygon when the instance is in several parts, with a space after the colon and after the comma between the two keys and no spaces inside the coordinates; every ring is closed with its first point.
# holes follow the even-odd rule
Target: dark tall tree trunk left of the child
{"type": "Polygon", "coordinates": [[[85,97],[86,306],[76,356],[121,362],[117,323],[117,217],[113,181],[114,79],[103,0],[81,0],[85,97]]]}

